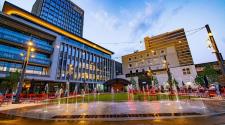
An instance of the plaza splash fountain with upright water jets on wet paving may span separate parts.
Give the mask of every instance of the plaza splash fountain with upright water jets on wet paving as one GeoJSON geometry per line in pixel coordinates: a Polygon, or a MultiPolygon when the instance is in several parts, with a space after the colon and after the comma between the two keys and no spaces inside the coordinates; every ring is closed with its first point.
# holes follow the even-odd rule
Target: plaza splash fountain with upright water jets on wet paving
{"type": "MultiPolygon", "coordinates": [[[[146,86],[142,91],[134,92],[134,87],[128,85],[124,93],[118,90],[115,92],[113,87],[110,93],[100,93],[98,88],[86,93],[82,89],[81,95],[75,86],[70,97],[62,97],[63,90],[60,88],[55,93],[56,99],[50,101],[47,97],[41,106],[12,109],[3,113],[47,120],[145,120],[199,117],[215,113],[205,104],[205,100],[180,99],[176,86],[173,89],[174,99],[169,98],[169,93],[155,94],[157,99],[154,99],[151,97],[154,86],[146,86]]],[[[48,84],[45,91],[48,96],[48,84]]]]}

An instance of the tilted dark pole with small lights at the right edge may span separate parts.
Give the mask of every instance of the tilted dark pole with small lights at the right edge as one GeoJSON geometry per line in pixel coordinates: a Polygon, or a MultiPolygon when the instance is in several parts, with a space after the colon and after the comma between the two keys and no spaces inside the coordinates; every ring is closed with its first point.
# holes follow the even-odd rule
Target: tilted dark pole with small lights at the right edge
{"type": "Polygon", "coordinates": [[[209,25],[206,24],[206,25],[205,25],[205,28],[206,28],[206,30],[207,30],[207,32],[208,32],[208,36],[209,36],[209,39],[210,39],[210,41],[211,41],[212,47],[213,47],[213,49],[214,49],[214,53],[216,54],[216,58],[217,58],[217,60],[218,60],[219,66],[220,66],[220,68],[221,68],[222,75],[225,75],[225,68],[224,68],[224,60],[223,60],[223,56],[222,56],[222,54],[219,52],[219,49],[217,48],[215,39],[214,39],[214,37],[213,37],[213,35],[212,35],[212,32],[211,32],[211,30],[210,30],[210,28],[209,28],[209,25]]]}

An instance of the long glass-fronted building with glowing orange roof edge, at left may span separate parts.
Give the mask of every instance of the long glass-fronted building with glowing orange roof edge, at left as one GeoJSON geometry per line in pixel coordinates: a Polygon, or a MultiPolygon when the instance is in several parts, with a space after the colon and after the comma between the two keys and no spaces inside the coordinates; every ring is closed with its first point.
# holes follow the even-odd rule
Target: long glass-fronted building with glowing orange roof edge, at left
{"type": "MultiPolygon", "coordinates": [[[[68,33],[31,13],[5,2],[0,14],[0,76],[21,71],[27,41],[34,43],[35,55],[26,69],[31,86],[65,84],[90,87],[115,77],[113,52],[87,39],[68,33]]],[[[72,89],[72,88],[71,88],[72,89]]]]}

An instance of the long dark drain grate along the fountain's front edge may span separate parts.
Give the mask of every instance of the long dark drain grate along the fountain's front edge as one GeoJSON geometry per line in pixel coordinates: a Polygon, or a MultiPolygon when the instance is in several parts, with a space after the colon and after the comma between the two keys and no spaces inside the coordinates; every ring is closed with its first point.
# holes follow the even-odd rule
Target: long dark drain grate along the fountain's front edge
{"type": "Polygon", "coordinates": [[[90,118],[134,118],[134,117],[159,117],[159,116],[191,116],[201,115],[200,113],[150,113],[150,114],[106,114],[106,115],[56,115],[52,119],[90,119],[90,118]]]}

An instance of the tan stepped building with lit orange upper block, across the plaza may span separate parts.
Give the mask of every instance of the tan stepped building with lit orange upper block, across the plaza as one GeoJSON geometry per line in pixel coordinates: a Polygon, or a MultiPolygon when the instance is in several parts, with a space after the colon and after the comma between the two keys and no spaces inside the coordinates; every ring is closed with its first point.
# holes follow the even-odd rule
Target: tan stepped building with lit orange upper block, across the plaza
{"type": "Polygon", "coordinates": [[[145,50],[122,57],[123,73],[136,77],[151,71],[159,84],[166,83],[166,66],[180,84],[194,81],[197,75],[184,29],[145,37],[145,50]]]}

